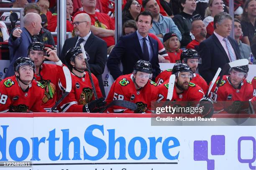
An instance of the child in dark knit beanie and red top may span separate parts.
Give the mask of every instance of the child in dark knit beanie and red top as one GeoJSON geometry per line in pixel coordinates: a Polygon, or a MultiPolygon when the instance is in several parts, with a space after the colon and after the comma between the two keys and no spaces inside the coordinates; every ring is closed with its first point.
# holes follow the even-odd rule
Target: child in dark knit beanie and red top
{"type": "Polygon", "coordinates": [[[177,61],[179,61],[182,50],[179,49],[180,42],[179,42],[178,36],[174,32],[169,32],[164,35],[163,41],[164,41],[164,47],[167,50],[170,62],[176,63],[177,61]]]}

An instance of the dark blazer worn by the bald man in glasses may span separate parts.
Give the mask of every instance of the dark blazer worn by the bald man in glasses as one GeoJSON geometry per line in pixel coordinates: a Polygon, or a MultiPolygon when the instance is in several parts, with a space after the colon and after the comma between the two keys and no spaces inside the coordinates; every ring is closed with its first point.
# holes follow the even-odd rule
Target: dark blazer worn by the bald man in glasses
{"type": "MultiPolygon", "coordinates": [[[[78,37],[72,37],[65,40],[64,45],[62,47],[60,60],[65,62],[65,55],[67,51],[75,47],[78,37]]],[[[107,44],[104,40],[100,39],[99,37],[91,35],[87,39],[84,50],[89,54],[90,60],[88,60],[91,72],[97,77],[99,81],[100,90],[102,95],[105,97],[105,90],[102,80],[102,73],[104,72],[106,61],[107,61],[107,44]]]]}

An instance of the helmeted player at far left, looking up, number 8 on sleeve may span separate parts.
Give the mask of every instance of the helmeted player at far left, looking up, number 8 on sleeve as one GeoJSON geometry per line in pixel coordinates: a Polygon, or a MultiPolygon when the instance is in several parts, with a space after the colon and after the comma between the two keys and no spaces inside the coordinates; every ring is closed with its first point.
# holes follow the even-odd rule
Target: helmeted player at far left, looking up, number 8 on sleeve
{"type": "Polygon", "coordinates": [[[44,89],[33,80],[35,69],[30,58],[14,62],[15,75],[0,82],[0,112],[46,112],[41,106],[44,89]]]}

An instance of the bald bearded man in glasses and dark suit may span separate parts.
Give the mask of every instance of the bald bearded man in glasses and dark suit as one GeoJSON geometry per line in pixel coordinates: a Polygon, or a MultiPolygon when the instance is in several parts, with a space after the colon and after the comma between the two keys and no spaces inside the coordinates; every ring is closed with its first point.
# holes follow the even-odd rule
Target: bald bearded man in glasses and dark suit
{"type": "Polygon", "coordinates": [[[91,19],[89,15],[85,13],[76,15],[73,24],[75,34],[78,36],[69,38],[64,42],[60,60],[65,63],[67,51],[72,47],[80,47],[80,43],[84,43],[84,50],[90,56],[90,60],[88,60],[90,70],[97,77],[102,95],[105,96],[101,75],[107,61],[107,44],[90,31],[91,19]]]}

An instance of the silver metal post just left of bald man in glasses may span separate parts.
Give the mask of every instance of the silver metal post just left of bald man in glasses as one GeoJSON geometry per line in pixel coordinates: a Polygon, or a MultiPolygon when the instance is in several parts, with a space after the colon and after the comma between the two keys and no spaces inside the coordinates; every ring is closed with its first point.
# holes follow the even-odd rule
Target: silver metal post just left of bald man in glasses
{"type": "Polygon", "coordinates": [[[57,54],[60,56],[62,46],[66,40],[66,0],[57,0],[57,54]]]}

